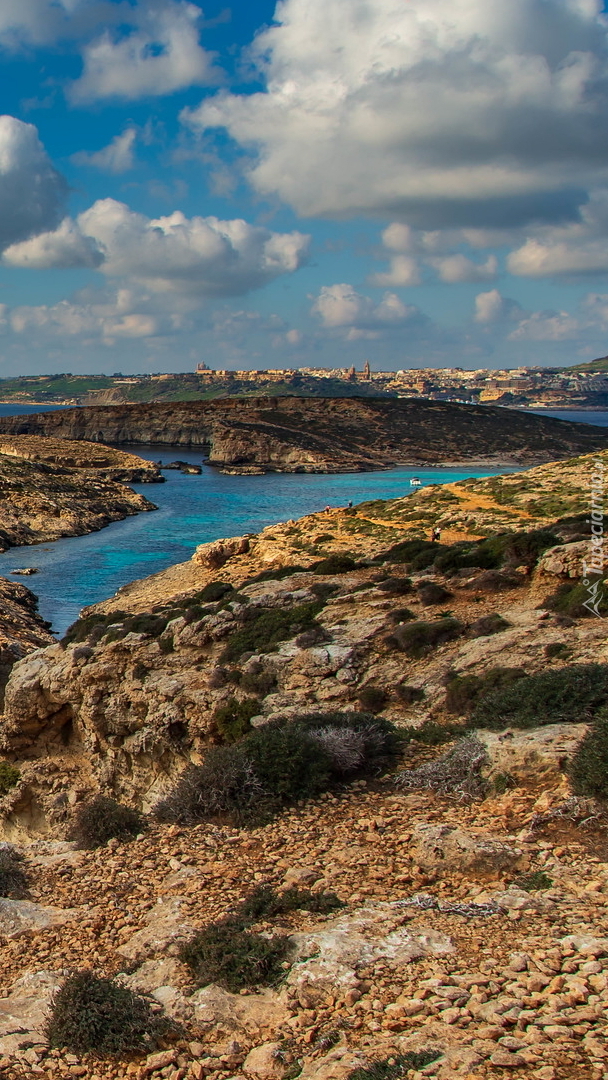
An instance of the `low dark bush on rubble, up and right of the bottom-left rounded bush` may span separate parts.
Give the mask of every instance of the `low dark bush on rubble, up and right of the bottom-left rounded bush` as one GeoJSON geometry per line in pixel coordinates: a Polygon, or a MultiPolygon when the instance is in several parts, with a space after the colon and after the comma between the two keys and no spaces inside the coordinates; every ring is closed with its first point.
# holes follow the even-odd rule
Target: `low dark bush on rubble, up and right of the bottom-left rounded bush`
{"type": "Polygon", "coordinates": [[[238,994],[279,983],[288,951],[286,937],[265,937],[243,930],[233,919],[224,919],[194,934],[181,946],[179,959],[188,964],[198,986],[215,983],[238,994]]]}

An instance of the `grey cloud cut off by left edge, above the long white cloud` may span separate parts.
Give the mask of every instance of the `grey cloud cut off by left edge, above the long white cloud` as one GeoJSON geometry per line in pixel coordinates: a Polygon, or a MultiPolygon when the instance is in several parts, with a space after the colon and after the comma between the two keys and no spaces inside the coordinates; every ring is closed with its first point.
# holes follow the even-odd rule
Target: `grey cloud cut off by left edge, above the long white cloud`
{"type": "Polygon", "coordinates": [[[0,116],[0,248],[54,228],[66,195],[36,127],[0,116]]]}

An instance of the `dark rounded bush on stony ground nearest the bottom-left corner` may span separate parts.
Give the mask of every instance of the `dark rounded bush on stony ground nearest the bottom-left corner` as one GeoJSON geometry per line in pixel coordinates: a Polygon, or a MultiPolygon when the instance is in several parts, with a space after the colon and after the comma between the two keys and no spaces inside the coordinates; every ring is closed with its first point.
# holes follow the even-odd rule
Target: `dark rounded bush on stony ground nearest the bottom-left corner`
{"type": "Polygon", "coordinates": [[[53,997],[44,1035],[57,1050],[106,1056],[149,1050],[172,1026],[113,978],[82,971],[69,975],[53,997]]]}

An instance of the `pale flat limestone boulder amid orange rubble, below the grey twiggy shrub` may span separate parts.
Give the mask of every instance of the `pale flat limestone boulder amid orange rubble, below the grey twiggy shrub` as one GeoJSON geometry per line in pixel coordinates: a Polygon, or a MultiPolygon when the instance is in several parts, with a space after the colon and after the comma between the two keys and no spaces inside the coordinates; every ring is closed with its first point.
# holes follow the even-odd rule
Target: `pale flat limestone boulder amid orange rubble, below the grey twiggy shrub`
{"type": "Polygon", "coordinates": [[[522,853],[487,834],[452,825],[417,825],[411,834],[411,855],[424,869],[461,869],[482,873],[512,869],[522,853]]]}

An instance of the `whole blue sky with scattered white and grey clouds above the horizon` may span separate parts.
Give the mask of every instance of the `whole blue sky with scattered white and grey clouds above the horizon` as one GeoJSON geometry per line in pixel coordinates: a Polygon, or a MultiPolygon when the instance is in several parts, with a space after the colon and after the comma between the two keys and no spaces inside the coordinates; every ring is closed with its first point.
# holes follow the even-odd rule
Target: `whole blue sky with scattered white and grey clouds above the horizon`
{"type": "Polygon", "coordinates": [[[602,0],[0,0],[0,378],[608,353],[602,0]]]}

